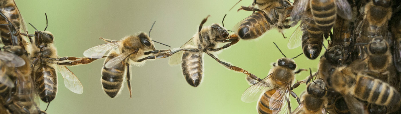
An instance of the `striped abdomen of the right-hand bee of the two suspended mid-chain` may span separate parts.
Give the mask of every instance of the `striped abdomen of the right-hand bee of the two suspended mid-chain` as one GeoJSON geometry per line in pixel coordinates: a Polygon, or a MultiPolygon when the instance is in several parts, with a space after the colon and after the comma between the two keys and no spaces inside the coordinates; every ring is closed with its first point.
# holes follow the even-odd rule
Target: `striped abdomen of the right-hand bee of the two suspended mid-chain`
{"type": "Polygon", "coordinates": [[[184,51],[182,54],[181,68],[186,82],[192,86],[198,86],[203,77],[203,53],[184,51]]]}

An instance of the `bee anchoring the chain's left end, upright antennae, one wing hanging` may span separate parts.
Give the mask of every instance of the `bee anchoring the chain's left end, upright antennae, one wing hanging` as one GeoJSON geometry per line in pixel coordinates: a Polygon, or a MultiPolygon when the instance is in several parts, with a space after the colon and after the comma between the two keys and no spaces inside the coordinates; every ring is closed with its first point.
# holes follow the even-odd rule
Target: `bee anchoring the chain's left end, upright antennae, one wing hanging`
{"type": "MultiPolygon", "coordinates": [[[[47,15],[46,15],[47,23],[47,15]]],[[[30,24],[30,23],[29,23],[30,24]]],[[[32,25],[32,24],[30,24],[32,25]]],[[[34,26],[32,26],[34,28],[34,26]]],[[[36,28],[34,28],[36,29],[36,28]]],[[[58,61],[75,60],[77,57],[62,57],[57,55],[54,36],[51,32],[38,31],[36,29],[33,35],[35,39],[31,42],[28,53],[32,59],[32,75],[34,86],[41,100],[51,102],[57,94],[57,73],[61,73],[64,79],[64,85],[77,94],[82,94],[83,86],[78,78],[67,67],[57,65],[58,61]]]]}

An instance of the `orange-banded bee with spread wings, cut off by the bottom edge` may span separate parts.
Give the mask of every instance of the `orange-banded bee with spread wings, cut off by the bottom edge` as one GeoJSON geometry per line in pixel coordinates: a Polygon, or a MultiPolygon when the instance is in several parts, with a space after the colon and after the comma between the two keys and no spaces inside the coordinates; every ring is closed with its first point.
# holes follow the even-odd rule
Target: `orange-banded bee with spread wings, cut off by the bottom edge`
{"type": "MultiPolygon", "coordinates": [[[[277,45],[276,47],[278,48],[277,45]]],[[[279,51],[281,52],[280,49],[279,51]]],[[[284,54],[282,53],[282,55],[284,54]]],[[[291,112],[290,105],[288,105],[288,108],[285,106],[289,104],[289,93],[294,98],[297,98],[298,101],[300,100],[292,91],[293,88],[290,89],[290,86],[295,79],[295,74],[305,70],[298,69],[298,71],[295,71],[297,65],[293,60],[294,58],[288,59],[284,55],[284,57],[278,59],[276,63],[273,63],[269,75],[262,81],[247,88],[242,94],[241,100],[243,102],[254,102],[259,99],[257,102],[259,114],[277,114],[279,112],[287,112],[287,109],[291,112]]]]}

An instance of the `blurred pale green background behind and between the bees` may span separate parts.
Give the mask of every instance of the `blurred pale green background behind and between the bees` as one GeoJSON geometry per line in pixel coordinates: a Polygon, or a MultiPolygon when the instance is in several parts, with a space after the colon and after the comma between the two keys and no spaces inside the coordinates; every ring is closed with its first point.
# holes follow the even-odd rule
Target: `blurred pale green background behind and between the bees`
{"type": "MultiPolygon", "coordinates": [[[[148,32],[152,23],[152,39],[170,46],[180,47],[197,31],[203,18],[211,15],[204,26],[221,23],[232,29],[237,22],[251,14],[237,12],[240,6],[249,6],[253,0],[243,0],[228,11],[237,0],[16,0],[24,20],[43,30],[45,13],[49,18],[48,31],[55,36],[58,54],[82,57],[83,52],[104,43],[99,37],[119,40],[139,31],[148,32]]],[[[295,28],[286,30],[290,37],[295,28]]],[[[29,26],[33,34],[34,29],[29,26]]],[[[273,29],[255,40],[239,43],[219,54],[219,59],[242,67],[263,79],[271,64],[283,57],[273,45],[276,42],[287,57],[302,53],[300,47],[288,49],[288,38],[273,29]]],[[[168,47],[155,44],[156,49],[168,47]]],[[[132,94],[126,83],[122,93],[110,98],[102,89],[101,67],[103,59],[89,65],[69,67],[84,87],[83,94],[65,88],[59,76],[57,97],[49,106],[49,114],[254,114],[256,102],[241,101],[241,94],[249,87],[245,75],[229,71],[209,56],[204,56],[204,79],[200,86],[192,87],[184,80],[180,66],[170,67],[168,59],[148,61],[142,67],[132,67],[132,94]]],[[[304,55],[295,59],[298,68],[316,71],[318,60],[304,55]]],[[[308,71],[296,79],[302,80],[308,71]]],[[[300,94],[301,85],[295,89],[300,94]]],[[[46,105],[41,102],[41,109],[46,105]]],[[[292,110],[298,106],[292,98],[292,110]]]]}

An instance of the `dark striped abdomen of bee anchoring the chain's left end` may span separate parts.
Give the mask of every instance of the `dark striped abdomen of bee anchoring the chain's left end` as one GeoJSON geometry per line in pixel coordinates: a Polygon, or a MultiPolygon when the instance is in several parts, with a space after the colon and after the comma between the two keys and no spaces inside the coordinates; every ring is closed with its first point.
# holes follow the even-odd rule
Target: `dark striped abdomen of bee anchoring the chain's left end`
{"type": "Polygon", "coordinates": [[[44,102],[50,102],[57,93],[57,73],[55,68],[47,64],[39,64],[34,72],[34,82],[39,97],[44,102]]]}

